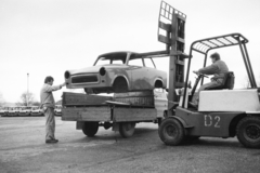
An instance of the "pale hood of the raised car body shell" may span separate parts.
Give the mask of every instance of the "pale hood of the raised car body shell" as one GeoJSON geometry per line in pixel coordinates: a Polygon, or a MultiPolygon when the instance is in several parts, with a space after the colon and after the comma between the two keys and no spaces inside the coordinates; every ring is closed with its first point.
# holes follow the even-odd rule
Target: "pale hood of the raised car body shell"
{"type": "Polygon", "coordinates": [[[95,72],[99,72],[102,67],[104,67],[105,69],[118,69],[118,68],[126,68],[128,66],[123,65],[123,64],[120,64],[120,65],[108,64],[108,65],[92,66],[92,67],[87,67],[87,68],[81,68],[81,69],[73,69],[73,70],[67,70],[67,71],[70,75],[95,74],[95,72]]]}

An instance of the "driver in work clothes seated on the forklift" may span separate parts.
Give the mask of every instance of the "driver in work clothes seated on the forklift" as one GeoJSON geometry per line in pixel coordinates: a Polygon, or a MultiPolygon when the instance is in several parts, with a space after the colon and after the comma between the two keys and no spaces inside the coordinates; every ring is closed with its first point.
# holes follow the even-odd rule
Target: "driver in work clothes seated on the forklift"
{"type": "MultiPolygon", "coordinates": [[[[229,71],[229,67],[226,66],[226,64],[220,59],[220,55],[219,53],[213,53],[210,55],[211,62],[212,64],[205,67],[205,68],[200,68],[199,70],[194,70],[193,72],[195,74],[204,74],[204,75],[213,75],[213,77],[211,78],[211,82],[209,83],[205,83],[203,85],[200,85],[200,88],[198,89],[198,95],[199,92],[203,90],[207,90],[206,88],[214,88],[214,86],[219,86],[219,85],[223,85],[224,83],[224,74],[229,71]]],[[[195,106],[198,106],[198,96],[195,99],[195,106]]]]}

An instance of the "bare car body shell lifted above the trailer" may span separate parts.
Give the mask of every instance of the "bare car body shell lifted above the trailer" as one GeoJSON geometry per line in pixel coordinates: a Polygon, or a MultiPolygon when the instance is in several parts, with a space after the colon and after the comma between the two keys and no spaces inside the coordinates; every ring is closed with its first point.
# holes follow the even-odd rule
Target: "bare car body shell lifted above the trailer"
{"type": "Polygon", "coordinates": [[[100,55],[92,67],[67,70],[67,89],[84,89],[87,93],[122,93],[165,89],[167,74],[156,69],[152,57],[134,52],[100,55]]]}

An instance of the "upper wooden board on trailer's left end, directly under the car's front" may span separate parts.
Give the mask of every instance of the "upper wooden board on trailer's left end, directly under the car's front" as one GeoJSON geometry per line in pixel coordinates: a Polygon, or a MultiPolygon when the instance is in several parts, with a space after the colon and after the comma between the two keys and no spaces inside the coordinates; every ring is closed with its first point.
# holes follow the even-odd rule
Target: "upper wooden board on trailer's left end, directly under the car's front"
{"type": "Polygon", "coordinates": [[[63,106],[78,105],[105,105],[106,101],[112,101],[110,96],[87,95],[82,93],[63,93],[63,106]]]}

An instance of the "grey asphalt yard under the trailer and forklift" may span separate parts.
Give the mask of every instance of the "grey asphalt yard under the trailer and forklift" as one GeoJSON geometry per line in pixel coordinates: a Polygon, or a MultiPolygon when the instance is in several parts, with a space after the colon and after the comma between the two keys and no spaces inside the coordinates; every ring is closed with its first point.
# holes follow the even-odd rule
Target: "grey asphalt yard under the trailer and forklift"
{"type": "Polygon", "coordinates": [[[57,144],[44,143],[44,117],[0,117],[0,173],[260,172],[260,150],[237,138],[202,137],[171,147],[157,124],[139,123],[131,138],[100,128],[95,137],[56,117],[57,144]]]}

